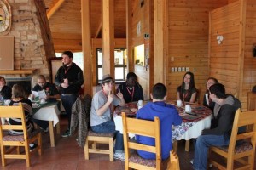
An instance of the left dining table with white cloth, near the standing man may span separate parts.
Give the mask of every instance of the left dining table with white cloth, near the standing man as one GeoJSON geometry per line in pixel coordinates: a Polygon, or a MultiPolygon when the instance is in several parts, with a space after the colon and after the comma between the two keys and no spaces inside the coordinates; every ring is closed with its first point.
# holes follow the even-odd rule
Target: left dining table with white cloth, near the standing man
{"type": "Polygon", "coordinates": [[[44,104],[32,102],[33,118],[49,122],[49,139],[51,147],[55,147],[55,132],[60,134],[60,101],[48,101],[44,104]]]}

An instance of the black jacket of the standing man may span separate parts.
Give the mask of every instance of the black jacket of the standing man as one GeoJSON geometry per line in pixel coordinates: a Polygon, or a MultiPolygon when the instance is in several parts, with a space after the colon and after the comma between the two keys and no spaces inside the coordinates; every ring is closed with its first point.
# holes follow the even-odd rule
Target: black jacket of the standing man
{"type": "Polygon", "coordinates": [[[72,63],[69,67],[61,66],[55,75],[55,85],[60,87],[61,94],[79,94],[79,89],[83,84],[83,71],[75,63],[72,63]],[[61,83],[64,82],[65,78],[67,78],[69,86],[62,88],[61,83]]]}

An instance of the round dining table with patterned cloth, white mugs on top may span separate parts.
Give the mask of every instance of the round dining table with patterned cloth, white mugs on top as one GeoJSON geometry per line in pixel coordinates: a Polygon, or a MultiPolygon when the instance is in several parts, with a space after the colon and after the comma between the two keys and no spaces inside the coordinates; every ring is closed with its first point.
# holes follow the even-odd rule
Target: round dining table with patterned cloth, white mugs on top
{"type": "MultiPolygon", "coordinates": [[[[196,139],[201,135],[201,131],[211,127],[212,110],[206,106],[183,102],[183,105],[178,107],[175,101],[166,102],[171,105],[175,105],[179,115],[183,118],[181,125],[172,126],[172,142],[174,150],[177,150],[177,141],[181,139],[186,140],[185,150],[189,151],[189,139],[196,139]],[[190,105],[191,112],[185,112],[185,105],[190,105]]],[[[147,101],[143,101],[143,105],[146,105],[147,101]]],[[[115,129],[120,133],[123,133],[123,122],[121,112],[125,112],[126,116],[136,116],[137,103],[131,102],[125,104],[125,106],[119,106],[113,113],[113,121],[115,123],[115,129]]],[[[129,134],[130,138],[134,137],[133,134],[129,134]]]]}

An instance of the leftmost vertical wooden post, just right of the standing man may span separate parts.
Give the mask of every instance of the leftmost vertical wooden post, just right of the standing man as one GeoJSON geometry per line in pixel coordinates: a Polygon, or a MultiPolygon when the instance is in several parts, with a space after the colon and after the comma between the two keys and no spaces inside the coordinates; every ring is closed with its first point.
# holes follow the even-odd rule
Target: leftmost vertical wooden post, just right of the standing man
{"type": "Polygon", "coordinates": [[[92,94],[90,0],[81,0],[82,49],[84,54],[84,94],[92,94]]]}

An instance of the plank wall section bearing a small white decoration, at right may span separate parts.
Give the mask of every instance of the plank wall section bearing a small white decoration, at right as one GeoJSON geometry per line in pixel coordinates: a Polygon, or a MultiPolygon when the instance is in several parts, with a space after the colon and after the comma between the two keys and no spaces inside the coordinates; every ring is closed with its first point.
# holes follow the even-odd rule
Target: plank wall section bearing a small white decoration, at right
{"type": "Polygon", "coordinates": [[[240,2],[213,10],[210,20],[210,75],[224,84],[227,94],[236,94],[240,78],[240,2]],[[224,37],[221,44],[217,36],[224,37]]]}

